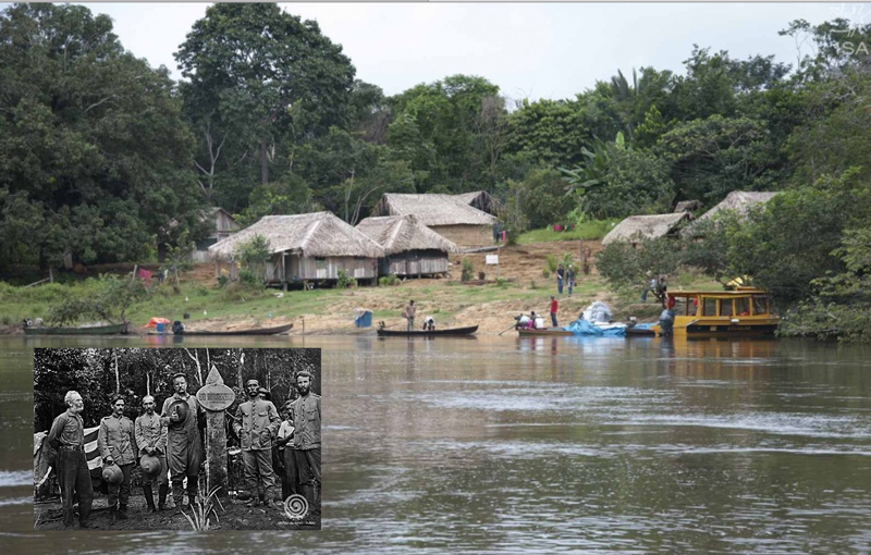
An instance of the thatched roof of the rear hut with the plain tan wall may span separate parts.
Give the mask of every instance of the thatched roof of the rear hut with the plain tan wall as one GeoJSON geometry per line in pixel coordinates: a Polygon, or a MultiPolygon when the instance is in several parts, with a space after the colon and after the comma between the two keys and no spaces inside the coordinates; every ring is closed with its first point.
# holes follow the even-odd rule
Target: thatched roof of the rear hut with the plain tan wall
{"type": "Polygon", "coordinates": [[[375,215],[416,215],[424,225],[492,225],[496,219],[465,203],[456,195],[385,193],[375,215]]]}

